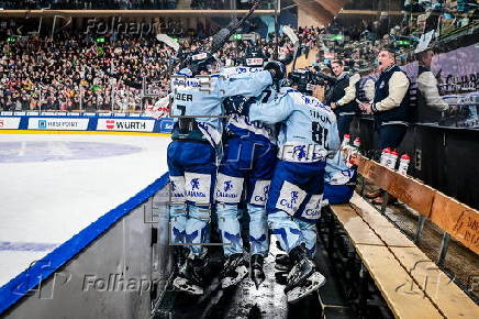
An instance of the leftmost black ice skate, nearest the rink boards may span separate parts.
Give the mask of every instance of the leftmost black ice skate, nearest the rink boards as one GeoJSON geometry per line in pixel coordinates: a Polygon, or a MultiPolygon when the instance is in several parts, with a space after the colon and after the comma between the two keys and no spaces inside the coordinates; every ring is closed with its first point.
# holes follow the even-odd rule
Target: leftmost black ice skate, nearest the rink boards
{"type": "Polygon", "coordinates": [[[205,261],[199,257],[188,257],[172,285],[181,292],[191,295],[203,294],[203,270],[205,261]]]}

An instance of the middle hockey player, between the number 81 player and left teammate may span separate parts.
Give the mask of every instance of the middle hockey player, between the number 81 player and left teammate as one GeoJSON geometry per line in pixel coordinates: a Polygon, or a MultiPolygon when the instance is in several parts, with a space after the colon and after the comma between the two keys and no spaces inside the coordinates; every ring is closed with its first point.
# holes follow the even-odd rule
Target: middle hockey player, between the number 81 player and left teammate
{"type": "MultiPolygon", "coordinates": [[[[254,75],[263,69],[264,57],[249,52],[245,64],[246,67],[229,68],[224,73],[254,75]]],[[[270,62],[265,67],[269,68],[271,64],[282,67],[277,62],[270,62]]],[[[276,89],[268,87],[259,98],[267,102],[275,97],[276,89]]],[[[275,125],[253,122],[247,116],[234,111],[249,102],[243,96],[225,100],[226,109],[233,113],[226,128],[226,146],[215,190],[218,223],[226,258],[221,274],[223,288],[236,285],[247,274],[238,213],[244,188],[249,216],[250,276],[256,287],[265,279],[263,264],[269,250],[265,205],[277,155],[276,130],[275,125]]]]}

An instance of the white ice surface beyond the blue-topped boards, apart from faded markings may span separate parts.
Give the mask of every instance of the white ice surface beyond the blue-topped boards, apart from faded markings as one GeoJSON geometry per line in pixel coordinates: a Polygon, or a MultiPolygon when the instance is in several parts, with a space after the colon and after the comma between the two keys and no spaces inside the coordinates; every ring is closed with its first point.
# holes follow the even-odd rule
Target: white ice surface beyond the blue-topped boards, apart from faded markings
{"type": "MultiPolygon", "coordinates": [[[[0,163],[0,242],[59,245],[167,172],[167,136],[0,134],[0,143],[26,142],[22,148],[37,141],[114,143],[142,150],[90,160],[0,163]]],[[[52,250],[0,250],[0,286],[52,250]]]]}

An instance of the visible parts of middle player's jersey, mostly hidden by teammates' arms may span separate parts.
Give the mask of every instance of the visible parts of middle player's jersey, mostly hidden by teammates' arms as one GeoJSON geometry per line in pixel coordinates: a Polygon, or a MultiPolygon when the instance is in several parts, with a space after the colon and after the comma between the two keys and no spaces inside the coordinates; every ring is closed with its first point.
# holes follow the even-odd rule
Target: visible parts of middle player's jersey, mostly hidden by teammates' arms
{"type": "MultiPolygon", "coordinates": [[[[261,72],[263,68],[258,67],[229,67],[222,70],[222,75],[225,76],[236,76],[236,75],[253,75],[261,72]]],[[[257,97],[261,102],[270,102],[277,97],[278,92],[274,87],[267,87],[257,97]]],[[[229,102],[236,105],[246,101],[247,98],[243,96],[235,96],[229,98],[229,102]]],[[[236,136],[247,136],[255,141],[266,141],[276,144],[277,132],[275,125],[265,124],[259,121],[252,121],[247,116],[232,113],[226,125],[226,131],[233,133],[236,136]]]]}

